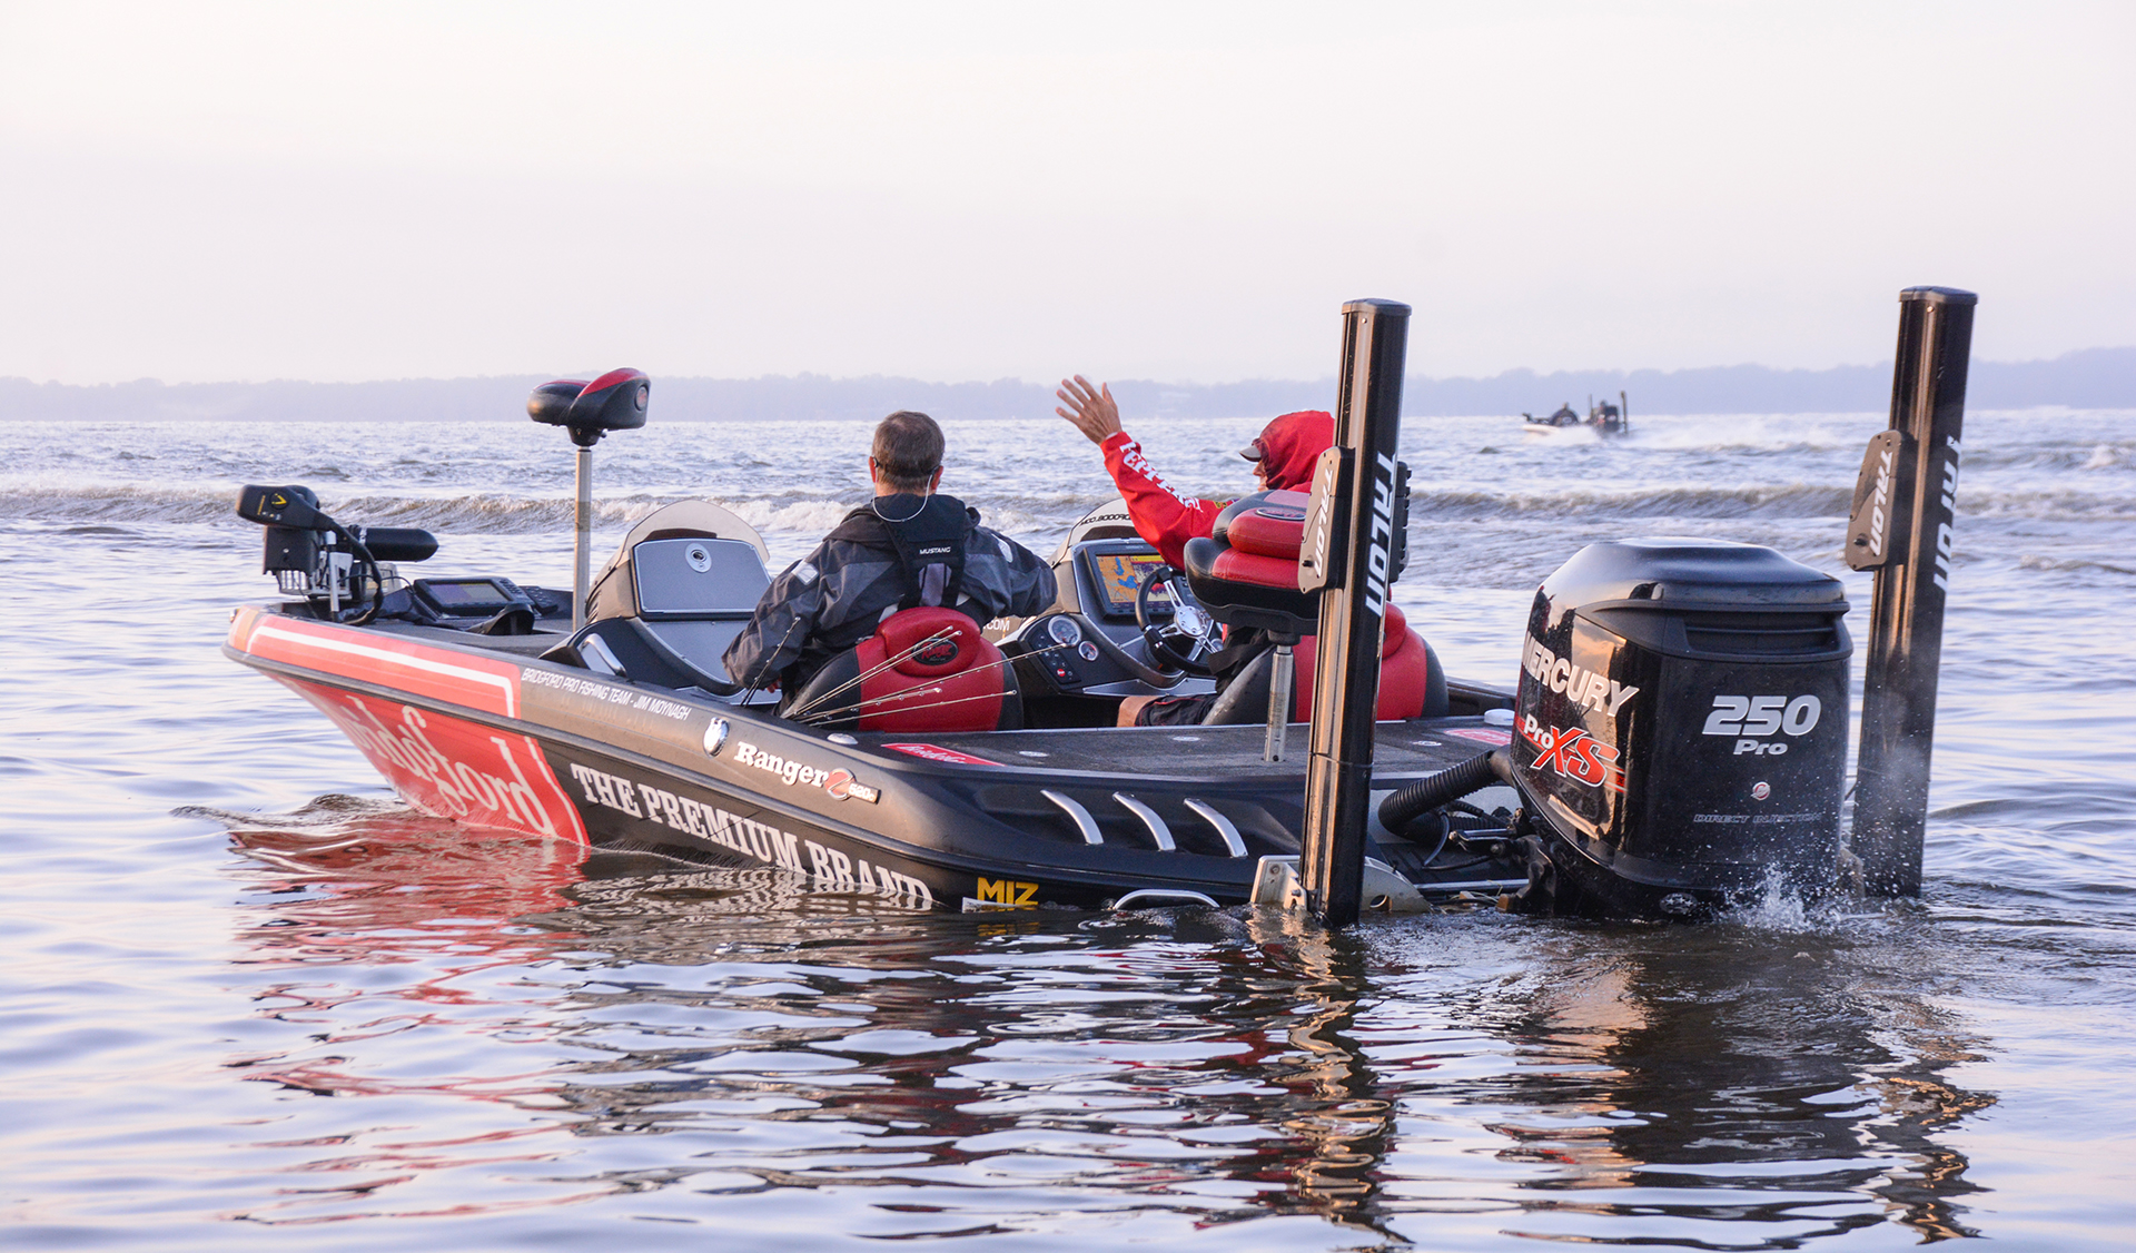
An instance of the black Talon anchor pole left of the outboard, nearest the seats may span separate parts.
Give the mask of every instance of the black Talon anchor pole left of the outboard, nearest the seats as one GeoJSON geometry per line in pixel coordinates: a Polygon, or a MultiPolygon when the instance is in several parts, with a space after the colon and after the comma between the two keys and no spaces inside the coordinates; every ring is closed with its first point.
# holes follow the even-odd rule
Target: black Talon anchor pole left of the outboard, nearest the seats
{"type": "Polygon", "coordinates": [[[1320,453],[1305,511],[1299,590],[1320,594],[1312,755],[1305,765],[1305,904],[1324,926],[1350,926],[1363,904],[1371,731],[1380,703],[1386,594],[1401,575],[1395,494],[1401,475],[1401,370],[1410,306],[1341,306],[1335,447],[1320,453]]]}

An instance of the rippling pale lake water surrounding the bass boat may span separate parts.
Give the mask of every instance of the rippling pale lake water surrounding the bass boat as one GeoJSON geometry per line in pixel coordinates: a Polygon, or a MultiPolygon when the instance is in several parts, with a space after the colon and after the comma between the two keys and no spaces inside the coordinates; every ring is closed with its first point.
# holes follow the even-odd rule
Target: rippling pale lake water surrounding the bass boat
{"type": "MultiPolygon", "coordinates": [[[[788,560],[861,496],[865,426],[654,398],[600,447],[602,550],[705,494],[788,560]]],[[[1209,494],[1256,426],[1130,421],[1209,494]]],[[[1412,419],[1397,599],[1510,686],[1581,543],[1846,573],[1880,428],[1412,419]]],[[[1066,423],[948,434],[944,490],[1032,547],[1111,494],[1066,423]]],[[[423,817],[218,652],[271,597],[235,488],[568,586],[560,432],[0,428],[0,1244],[2125,1247],[2136,413],[1976,413],[1965,443],[1920,900],[1326,937],[861,909],[423,817]]]]}

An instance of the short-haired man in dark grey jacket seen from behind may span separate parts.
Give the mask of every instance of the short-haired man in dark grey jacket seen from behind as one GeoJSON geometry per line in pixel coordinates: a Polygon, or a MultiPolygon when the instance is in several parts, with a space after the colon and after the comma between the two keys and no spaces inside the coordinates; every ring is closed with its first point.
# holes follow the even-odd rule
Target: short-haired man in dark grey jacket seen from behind
{"type": "Polygon", "coordinates": [[[1036,554],[938,492],[944,449],[925,413],[897,411],[876,426],[876,498],[771,579],[726,648],[735,682],[790,695],[899,609],[944,605],[985,626],[1053,605],[1053,571],[1036,554]]]}

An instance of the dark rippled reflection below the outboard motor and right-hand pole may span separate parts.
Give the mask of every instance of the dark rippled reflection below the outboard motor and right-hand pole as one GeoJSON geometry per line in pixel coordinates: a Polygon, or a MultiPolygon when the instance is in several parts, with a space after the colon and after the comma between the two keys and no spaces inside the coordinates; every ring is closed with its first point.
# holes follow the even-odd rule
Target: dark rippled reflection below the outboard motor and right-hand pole
{"type": "Polygon", "coordinates": [[[1963,1200],[1980,1189],[1944,1138],[1995,1097],[1946,1073],[1978,1041],[1892,992],[1903,949],[1781,924],[1566,954],[1504,1022],[1527,1056],[1499,1099],[1544,1114],[1504,1129],[1561,1161],[1561,1187],[1598,1212],[1702,1227],[1717,1244],[1754,1212],[1794,1240],[1880,1223],[1922,1242],[1974,1236],[1963,1200]],[[1831,1193],[1875,1204],[1835,1210],[1831,1193]]]}

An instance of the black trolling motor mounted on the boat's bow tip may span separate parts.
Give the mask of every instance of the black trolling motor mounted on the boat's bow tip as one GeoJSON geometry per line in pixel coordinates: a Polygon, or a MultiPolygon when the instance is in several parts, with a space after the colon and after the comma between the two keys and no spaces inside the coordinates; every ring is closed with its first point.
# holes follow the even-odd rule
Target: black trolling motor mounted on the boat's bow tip
{"type": "Polygon", "coordinates": [[[429,560],[438,539],[412,526],[342,526],[318,509],[318,494],[303,485],[237,492],[237,515],[267,528],[261,573],[273,575],[288,597],[305,597],[325,607],[329,622],[342,622],[342,603],[363,603],[352,626],[378,616],[391,567],[382,562],[429,560]],[[346,545],[346,547],[344,547],[346,545]]]}

